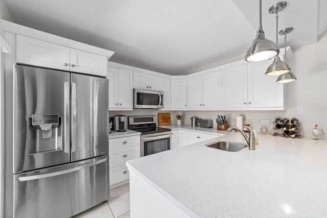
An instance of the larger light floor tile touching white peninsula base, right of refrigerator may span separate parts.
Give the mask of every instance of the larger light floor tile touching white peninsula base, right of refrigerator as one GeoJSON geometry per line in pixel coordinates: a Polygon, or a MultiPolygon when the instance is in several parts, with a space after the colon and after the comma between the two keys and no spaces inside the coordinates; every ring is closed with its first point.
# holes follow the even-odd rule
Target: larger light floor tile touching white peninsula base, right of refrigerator
{"type": "Polygon", "coordinates": [[[129,192],[107,201],[114,217],[119,217],[130,210],[129,192]]]}

